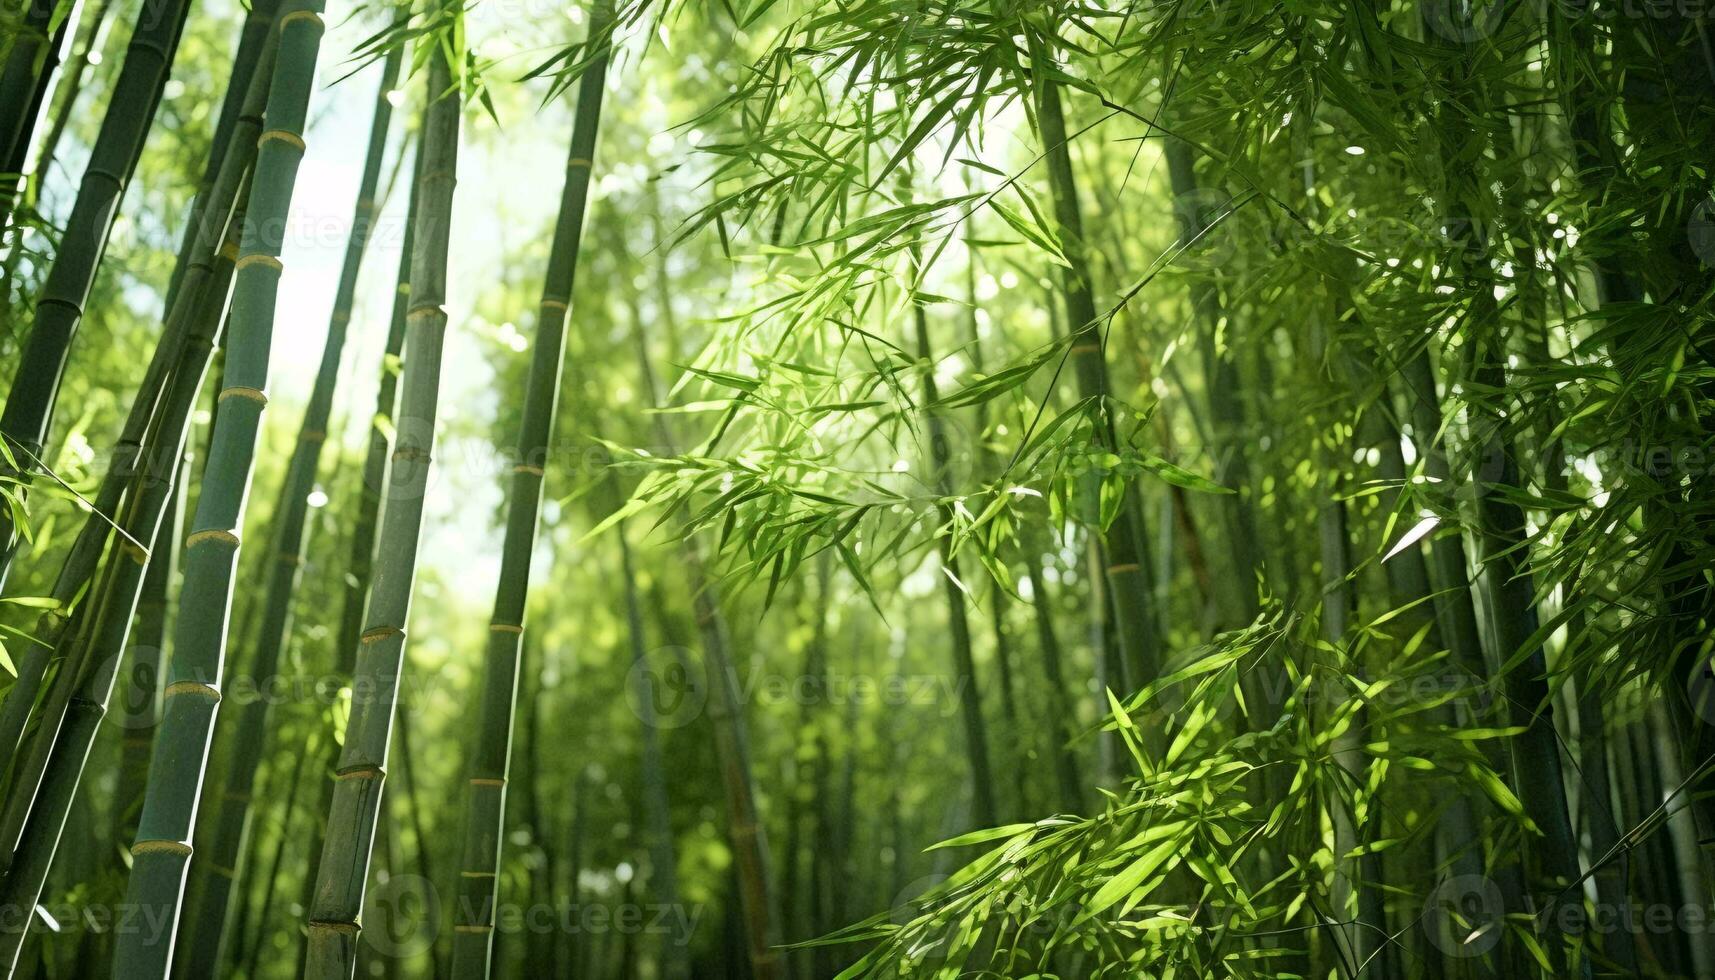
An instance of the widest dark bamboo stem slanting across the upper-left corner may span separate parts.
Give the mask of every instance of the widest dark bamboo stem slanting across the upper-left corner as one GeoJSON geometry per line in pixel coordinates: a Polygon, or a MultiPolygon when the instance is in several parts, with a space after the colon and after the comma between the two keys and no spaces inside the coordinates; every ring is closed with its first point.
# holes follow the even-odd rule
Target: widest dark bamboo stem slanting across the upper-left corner
{"type": "MultiPolygon", "coordinates": [[[[189,10],[190,0],[147,0],[142,5],[137,31],[125,50],[125,67],[113,81],[113,100],[89,151],[77,201],[65,220],[60,249],[41,295],[36,297],[34,324],[12,376],[5,410],[0,412],[0,439],[17,450],[26,474],[39,465],[48,441],[48,422],[72,338],[82,321],[120,197],[142,156],[142,139],[154,120],[154,106],[161,100],[161,86],[166,84],[189,10]]],[[[12,508],[0,508],[0,585],[10,570],[17,542],[12,508]]]]}

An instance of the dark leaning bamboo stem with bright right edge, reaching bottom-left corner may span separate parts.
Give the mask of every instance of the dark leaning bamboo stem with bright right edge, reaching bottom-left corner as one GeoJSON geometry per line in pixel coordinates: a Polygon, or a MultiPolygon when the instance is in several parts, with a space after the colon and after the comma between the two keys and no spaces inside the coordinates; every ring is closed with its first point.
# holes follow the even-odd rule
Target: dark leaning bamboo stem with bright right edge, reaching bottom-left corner
{"type": "MultiPolygon", "coordinates": [[[[209,283],[209,288],[201,290],[201,309],[190,314],[197,326],[180,345],[172,390],[149,439],[151,462],[137,474],[135,493],[127,503],[125,525],[132,537],[154,539],[159,535],[161,517],[173,494],[172,475],[177,474],[178,460],[184,455],[190,414],[197,403],[226,309],[235,259],[237,242],[228,240],[221,257],[213,263],[211,276],[214,281],[209,283]]],[[[120,652],[125,647],[125,632],[132,621],[137,589],[147,561],[147,553],[139,556],[130,541],[122,539],[115,544],[115,551],[118,554],[108,563],[108,573],[101,582],[98,635],[82,644],[74,656],[69,656],[63,668],[74,681],[74,690],[62,712],[63,726],[58,726],[58,738],[51,738],[53,733],[38,735],[43,745],[51,747],[51,757],[43,765],[45,779],[36,793],[34,807],[29,810],[29,819],[22,826],[15,862],[0,879],[0,908],[34,908],[39,901],[53,855],[65,831],[67,814],[89,759],[89,748],[94,745],[96,731],[106,714],[120,652]],[[94,656],[103,650],[105,656],[94,656]]],[[[0,929],[0,970],[5,977],[12,977],[29,918],[24,922],[7,918],[0,925],[15,925],[15,929],[0,929]]]]}

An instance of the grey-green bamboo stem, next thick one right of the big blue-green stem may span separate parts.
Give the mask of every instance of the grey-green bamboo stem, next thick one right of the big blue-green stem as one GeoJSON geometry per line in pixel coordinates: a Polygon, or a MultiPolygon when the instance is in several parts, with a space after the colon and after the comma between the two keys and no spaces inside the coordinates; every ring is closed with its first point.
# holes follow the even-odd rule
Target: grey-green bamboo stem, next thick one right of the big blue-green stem
{"type": "MultiPolygon", "coordinates": [[[[309,908],[310,978],[348,980],[357,968],[376,814],[386,779],[394,700],[405,659],[417,547],[422,539],[424,496],[434,448],[441,391],[441,354],[446,338],[446,259],[451,240],[453,187],[458,182],[460,88],[446,43],[432,45],[427,108],[422,125],[418,206],[412,242],[412,307],[406,314],[401,376],[403,398],[396,426],[388,506],[381,515],[381,561],[369,592],[365,628],[357,638],[352,717],[328,808],[328,836],[316,870],[309,908]]],[[[345,642],[352,642],[346,637],[345,642]]],[[[422,841],[418,841],[422,846],[422,841]]]]}

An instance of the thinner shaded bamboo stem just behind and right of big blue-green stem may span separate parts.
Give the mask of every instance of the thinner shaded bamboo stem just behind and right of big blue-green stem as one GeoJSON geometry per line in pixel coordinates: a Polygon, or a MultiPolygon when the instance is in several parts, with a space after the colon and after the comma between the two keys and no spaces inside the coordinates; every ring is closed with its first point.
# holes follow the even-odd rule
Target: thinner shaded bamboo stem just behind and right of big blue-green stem
{"type": "MultiPolygon", "coordinates": [[[[357,187],[357,206],[352,215],[352,232],[346,239],[345,264],[334,288],[333,316],[328,323],[328,340],[322,345],[321,367],[310,386],[310,398],[298,426],[297,446],[286,463],[286,477],[274,505],[274,554],[268,561],[268,580],[262,597],[262,626],[250,678],[266,690],[280,669],[280,654],[292,630],[292,597],[297,592],[298,570],[304,565],[305,527],[309,523],[309,498],[316,487],[316,470],[321,448],[328,439],[328,420],[333,414],[333,396],[340,383],[340,360],[352,321],[352,304],[357,295],[357,276],[362,271],[364,252],[369,247],[376,221],[376,187],[381,182],[381,165],[388,149],[388,127],[393,120],[393,103],[388,96],[400,74],[403,48],[388,53],[381,69],[376,108],[370,115],[369,153],[357,187]]],[[[245,829],[250,815],[250,789],[268,743],[268,699],[257,699],[238,709],[238,726],[233,733],[233,755],[226,765],[226,784],[214,805],[214,827],[209,851],[199,863],[202,892],[189,923],[192,949],[218,951],[216,963],[225,963],[228,939],[226,896],[235,880],[244,879],[245,829]]]]}

